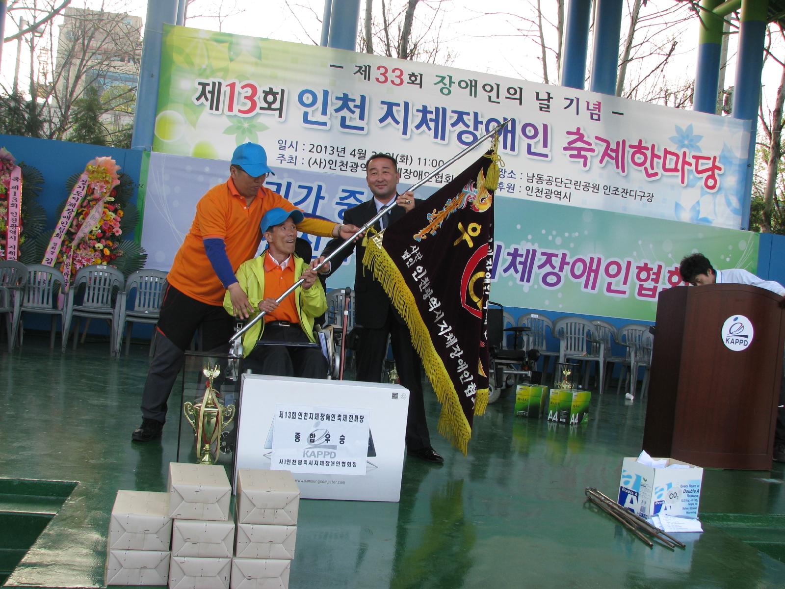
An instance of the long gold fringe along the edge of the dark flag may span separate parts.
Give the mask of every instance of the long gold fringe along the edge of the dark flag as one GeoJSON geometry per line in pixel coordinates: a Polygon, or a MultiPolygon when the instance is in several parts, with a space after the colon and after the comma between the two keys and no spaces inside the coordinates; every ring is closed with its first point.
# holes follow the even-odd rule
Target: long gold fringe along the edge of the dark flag
{"type": "MultiPolygon", "coordinates": [[[[464,455],[469,448],[469,438],[472,437],[472,428],[463,414],[463,409],[458,401],[458,393],[452,384],[444,362],[436,353],[429,335],[428,327],[422,320],[417,308],[414,295],[407,287],[406,280],[400,273],[398,266],[392,261],[387,251],[382,247],[383,232],[368,239],[363,256],[363,265],[374,273],[376,280],[382,284],[388,294],[392,305],[406,321],[411,332],[411,341],[414,349],[422,359],[425,374],[433,386],[436,398],[442,405],[437,429],[464,455]]],[[[487,406],[488,390],[478,390],[476,393],[475,411],[481,415],[487,406]]]]}

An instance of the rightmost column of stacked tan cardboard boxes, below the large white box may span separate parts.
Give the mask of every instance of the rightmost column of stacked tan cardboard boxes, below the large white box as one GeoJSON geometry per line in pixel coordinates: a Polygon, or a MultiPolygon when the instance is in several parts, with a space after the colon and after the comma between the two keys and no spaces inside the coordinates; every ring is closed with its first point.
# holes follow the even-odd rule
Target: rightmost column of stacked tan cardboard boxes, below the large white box
{"type": "Polygon", "coordinates": [[[287,589],[300,489],[288,470],[237,471],[232,589],[287,589]]]}

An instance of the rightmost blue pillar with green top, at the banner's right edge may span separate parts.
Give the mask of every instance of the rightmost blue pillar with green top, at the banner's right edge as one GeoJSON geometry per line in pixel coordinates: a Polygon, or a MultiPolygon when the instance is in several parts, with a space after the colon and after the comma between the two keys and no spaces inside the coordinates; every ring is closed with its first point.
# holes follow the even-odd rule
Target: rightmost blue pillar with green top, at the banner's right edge
{"type": "Polygon", "coordinates": [[[750,121],[750,148],[745,174],[741,229],[750,226],[750,195],[755,157],[755,134],[758,131],[758,104],[761,100],[761,71],[766,37],[769,0],[743,0],[739,26],[739,57],[736,60],[736,86],[733,90],[734,119],[750,121]]]}

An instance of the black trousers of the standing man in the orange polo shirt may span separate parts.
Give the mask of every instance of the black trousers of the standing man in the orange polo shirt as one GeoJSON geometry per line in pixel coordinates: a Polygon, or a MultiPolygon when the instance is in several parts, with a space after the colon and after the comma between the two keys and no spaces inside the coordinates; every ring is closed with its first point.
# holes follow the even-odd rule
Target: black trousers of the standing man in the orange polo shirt
{"type": "Polygon", "coordinates": [[[155,352],[142,393],[142,416],[166,421],[166,401],[172,386],[183,368],[185,349],[191,344],[196,330],[202,328],[202,347],[205,351],[228,351],[234,320],[222,306],[207,305],[169,285],[163,296],[158,324],[155,329],[155,352]]]}

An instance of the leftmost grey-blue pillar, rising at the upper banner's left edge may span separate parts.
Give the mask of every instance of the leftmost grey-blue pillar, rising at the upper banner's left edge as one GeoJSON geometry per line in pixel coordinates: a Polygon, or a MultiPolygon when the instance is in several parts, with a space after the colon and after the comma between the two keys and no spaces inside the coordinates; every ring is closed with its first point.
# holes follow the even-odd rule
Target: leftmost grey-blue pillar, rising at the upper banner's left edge
{"type": "Polygon", "coordinates": [[[158,108],[158,82],[161,74],[163,25],[177,20],[177,0],[148,0],[144,21],[144,45],[139,68],[137,107],[133,116],[131,149],[152,149],[155,111],[158,108]]]}

